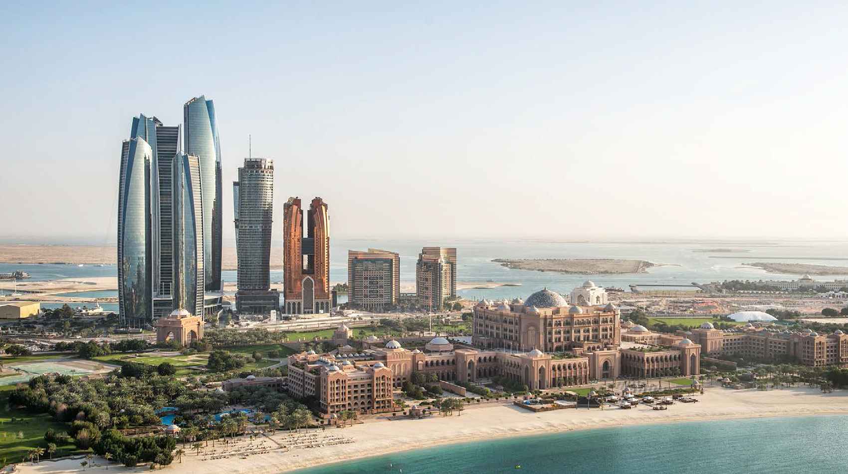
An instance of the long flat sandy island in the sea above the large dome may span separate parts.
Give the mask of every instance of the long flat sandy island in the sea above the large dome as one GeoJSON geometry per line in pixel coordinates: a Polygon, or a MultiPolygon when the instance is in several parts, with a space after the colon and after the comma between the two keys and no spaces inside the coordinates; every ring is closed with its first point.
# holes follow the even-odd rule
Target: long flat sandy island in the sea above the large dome
{"type": "Polygon", "coordinates": [[[494,259],[493,262],[515,270],[555,271],[579,275],[616,275],[644,273],[652,266],[644,260],[622,259],[494,259]]]}

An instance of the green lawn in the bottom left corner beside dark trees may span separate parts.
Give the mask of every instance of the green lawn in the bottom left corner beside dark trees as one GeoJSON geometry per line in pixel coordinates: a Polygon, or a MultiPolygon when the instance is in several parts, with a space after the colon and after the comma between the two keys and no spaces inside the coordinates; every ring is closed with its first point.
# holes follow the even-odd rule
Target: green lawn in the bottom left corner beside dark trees
{"type": "MultiPolygon", "coordinates": [[[[44,432],[48,427],[53,427],[56,432],[68,430],[68,425],[53,421],[50,415],[31,415],[25,411],[6,410],[5,407],[0,407],[0,461],[3,461],[3,465],[20,462],[20,458],[26,456],[31,448],[40,446],[47,449],[44,432]],[[14,422],[11,421],[13,416],[14,422]],[[24,438],[18,438],[20,432],[23,432],[24,438]]],[[[73,444],[65,444],[58,448],[56,456],[80,453],[73,444]]],[[[44,459],[47,457],[49,456],[44,454],[44,459]]]]}

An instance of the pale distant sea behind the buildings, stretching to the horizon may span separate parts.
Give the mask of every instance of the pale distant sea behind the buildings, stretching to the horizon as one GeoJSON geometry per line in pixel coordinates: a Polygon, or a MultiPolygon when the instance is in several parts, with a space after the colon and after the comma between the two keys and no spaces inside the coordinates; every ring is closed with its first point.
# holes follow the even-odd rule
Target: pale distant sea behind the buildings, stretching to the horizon
{"type": "MultiPolygon", "coordinates": [[[[416,259],[421,248],[442,246],[457,248],[457,281],[499,282],[512,286],[463,289],[464,298],[526,298],[543,287],[568,293],[588,279],[603,287],[629,285],[678,285],[664,289],[692,289],[693,282],[722,280],[793,280],[798,275],[767,273],[746,266],[753,262],[799,263],[848,266],[848,242],[845,241],[554,241],[463,239],[442,241],[338,238],[332,240],[330,280],[346,282],[349,249],[382,248],[400,254],[401,286],[414,287],[416,259]],[[622,275],[566,275],[556,272],[513,270],[493,259],[639,259],[657,264],[644,273],[622,275]]],[[[0,273],[23,270],[32,281],[59,278],[116,276],[115,265],[0,264],[0,273]]],[[[225,282],[236,282],[236,270],[222,272],[225,282]]],[[[819,276],[820,280],[848,278],[846,275],[819,276]]],[[[282,270],[271,270],[271,282],[282,282],[282,270]]],[[[655,289],[661,289],[655,288],[655,289]]],[[[645,287],[650,289],[650,287],[645,287]]],[[[8,293],[8,292],[6,292],[8,293]]],[[[117,296],[117,292],[83,292],[76,296],[117,296]]]]}

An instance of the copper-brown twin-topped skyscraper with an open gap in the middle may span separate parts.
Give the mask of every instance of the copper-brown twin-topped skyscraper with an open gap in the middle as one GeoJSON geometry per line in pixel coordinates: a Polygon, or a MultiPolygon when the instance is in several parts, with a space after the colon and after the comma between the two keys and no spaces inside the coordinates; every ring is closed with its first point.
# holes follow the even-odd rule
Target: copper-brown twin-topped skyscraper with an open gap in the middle
{"type": "Polygon", "coordinates": [[[282,227],[286,313],[329,313],[330,217],[323,199],[312,199],[306,222],[307,237],[304,237],[300,198],[288,198],[283,205],[282,227]]]}

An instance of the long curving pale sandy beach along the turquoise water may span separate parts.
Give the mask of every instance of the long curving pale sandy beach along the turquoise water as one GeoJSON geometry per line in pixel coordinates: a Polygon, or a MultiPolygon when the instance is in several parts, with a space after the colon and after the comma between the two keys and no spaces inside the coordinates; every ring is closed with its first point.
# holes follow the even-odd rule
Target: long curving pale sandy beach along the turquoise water
{"type": "MultiPolygon", "coordinates": [[[[469,442],[511,436],[567,432],[600,427],[622,427],[647,423],[676,421],[711,421],[734,418],[757,418],[789,415],[843,415],[848,409],[848,391],[823,394],[816,388],[781,388],[766,392],[708,388],[706,394],[698,395],[700,403],[676,403],[666,411],[651,410],[640,405],[633,410],[617,408],[557,410],[534,414],[510,404],[488,404],[471,406],[461,415],[442,417],[433,415],[422,420],[366,421],[345,428],[313,431],[317,444],[322,447],[281,449],[278,445],[303,443],[303,435],[277,432],[264,439],[267,452],[204,460],[208,454],[199,456],[187,449],[182,463],[176,460],[165,471],[175,474],[196,472],[231,472],[250,474],[273,474],[322,464],[353,460],[371,455],[389,454],[405,449],[420,449],[445,443],[469,442]],[[353,441],[351,443],[350,441],[353,441]]],[[[248,442],[244,442],[245,446],[248,442]]],[[[211,446],[211,444],[210,444],[211,446]]],[[[256,449],[256,448],[254,448],[256,449]]],[[[258,448],[265,449],[265,448],[258,448]]],[[[105,461],[96,460],[103,466],[105,461]]],[[[103,471],[103,467],[98,467],[103,471]]],[[[81,471],[80,460],[42,461],[39,465],[19,465],[24,473],[59,473],[81,471]]],[[[91,468],[89,468],[91,471],[91,468]]],[[[127,469],[110,466],[109,471],[148,471],[148,466],[127,469]]]]}

